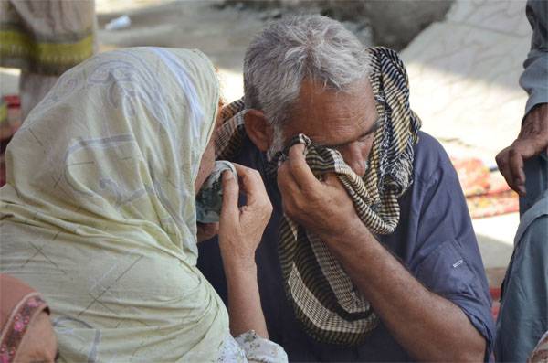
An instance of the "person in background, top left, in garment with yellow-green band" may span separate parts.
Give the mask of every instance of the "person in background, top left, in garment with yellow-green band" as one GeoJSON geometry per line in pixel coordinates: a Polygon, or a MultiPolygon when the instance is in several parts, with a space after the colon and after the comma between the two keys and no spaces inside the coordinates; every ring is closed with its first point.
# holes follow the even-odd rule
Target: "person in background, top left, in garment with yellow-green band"
{"type": "Polygon", "coordinates": [[[94,0],[0,1],[0,67],[21,69],[21,121],[66,70],[97,51],[94,0]]]}

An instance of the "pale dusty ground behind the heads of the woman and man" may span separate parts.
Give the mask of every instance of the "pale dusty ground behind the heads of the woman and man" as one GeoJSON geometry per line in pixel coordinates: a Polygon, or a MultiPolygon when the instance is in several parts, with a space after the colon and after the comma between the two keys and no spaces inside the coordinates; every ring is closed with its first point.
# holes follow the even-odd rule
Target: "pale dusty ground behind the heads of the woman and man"
{"type": "MultiPolygon", "coordinates": [[[[100,50],[111,48],[159,46],[200,48],[219,69],[227,101],[243,95],[241,77],[244,53],[251,39],[270,21],[293,10],[273,8],[257,11],[241,5],[224,6],[221,0],[97,0],[100,50]],[[132,25],[120,30],[105,30],[117,16],[128,15],[132,25]]],[[[300,8],[303,13],[320,13],[314,6],[300,8]]],[[[369,29],[346,22],[364,44],[371,44],[369,29]]]]}

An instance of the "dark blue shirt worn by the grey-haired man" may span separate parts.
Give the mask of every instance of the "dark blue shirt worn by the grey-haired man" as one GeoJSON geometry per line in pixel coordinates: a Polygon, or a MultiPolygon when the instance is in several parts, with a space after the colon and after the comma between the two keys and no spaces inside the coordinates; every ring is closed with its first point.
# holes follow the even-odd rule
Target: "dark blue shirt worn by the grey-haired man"
{"type": "MultiPolygon", "coordinates": [[[[419,133],[419,137],[414,183],[399,200],[400,223],[393,234],[381,240],[419,281],[463,310],[485,336],[487,358],[494,323],[489,288],[466,202],[458,176],[441,145],[427,133],[419,133]]],[[[270,339],[285,348],[291,361],[412,360],[382,323],[360,347],[321,344],[303,332],[287,303],[279,268],[277,242],[282,208],[276,180],[266,176],[264,155],[249,140],[234,162],[258,169],[274,207],[256,256],[270,339]]],[[[198,267],[227,302],[216,239],[200,243],[199,250],[198,267]]]]}

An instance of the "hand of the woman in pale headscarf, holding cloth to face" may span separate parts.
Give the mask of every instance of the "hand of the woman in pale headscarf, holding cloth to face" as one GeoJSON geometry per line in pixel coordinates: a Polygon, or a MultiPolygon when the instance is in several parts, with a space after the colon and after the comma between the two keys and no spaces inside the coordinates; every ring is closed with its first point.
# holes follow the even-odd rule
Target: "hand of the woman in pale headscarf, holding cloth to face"
{"type": "Polygon", "coordinates": [[[255,268],[255,250],[269,223],[272,205],[257,170],[234,164],[239,177],[223,173],[223,208],[219,220],[219,246],[223,262],[230,266],[255,268]],[[237,207],[238,191],[247,204],[237,207]]]}

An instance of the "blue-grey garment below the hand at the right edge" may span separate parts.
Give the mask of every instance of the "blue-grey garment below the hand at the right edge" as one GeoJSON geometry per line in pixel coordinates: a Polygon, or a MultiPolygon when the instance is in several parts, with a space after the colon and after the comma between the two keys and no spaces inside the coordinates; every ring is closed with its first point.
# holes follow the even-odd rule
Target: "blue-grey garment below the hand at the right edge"
{"type": "Polygon", "coordinates": [[[527,360],[548,330],[548,159],[525,162],[527,196],[504,277],[497,321],[495,357],[502,362],[527,360]]]}

